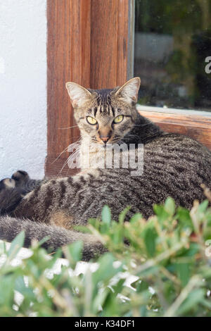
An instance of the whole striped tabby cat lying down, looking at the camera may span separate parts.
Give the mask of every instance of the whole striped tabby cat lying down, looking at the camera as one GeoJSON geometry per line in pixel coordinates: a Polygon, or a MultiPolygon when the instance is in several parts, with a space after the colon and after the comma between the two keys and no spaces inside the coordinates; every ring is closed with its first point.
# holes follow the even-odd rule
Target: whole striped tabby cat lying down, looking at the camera
{"type": "MultiPolygon", "coordinates": [[[[82,171],[72,177],[37,181],[20,170],[11,179],[1,180],[0,239],[11,241],[25,230],[25,246],[32,239],[49,236],[44,247],[53,251],[80,239],[87,261],[106,249],[94,236],[74,227],[101,217],[105,204],[117,220],[126,206],[131,206],[127,219],[136,212],[148,218],[153,204],[167,196],[186,208],[191,208],[194,199],[203,200],[200,185],[211,187],[211,152],[189,137],[163,132],[141,116],[136,111],[139,86],[139,77],[115,89],[92,90],[67,83],[82,135],[82,171]],[[115,168],[114,163],[110,168],[96,166],[96,156],[101,159],[105,151],[113,153],[107,147],[114,143],[132,144],[136,152],[143,144],[142,175],[132,175],[132,169],[123,165],[115,168]]],[[[121,151],[120,164],[127,158],[125,153],[121,151]]]]}

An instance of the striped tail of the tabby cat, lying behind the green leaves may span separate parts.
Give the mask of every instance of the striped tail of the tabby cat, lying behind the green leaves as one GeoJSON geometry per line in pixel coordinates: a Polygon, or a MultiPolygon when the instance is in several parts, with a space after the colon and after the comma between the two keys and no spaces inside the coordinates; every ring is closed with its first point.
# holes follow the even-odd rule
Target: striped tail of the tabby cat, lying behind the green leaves
{"type": "Polygon", "coordinates": [[[61,246],[71,244],[77,240],[84,242],[82,260],[89,261],[94,256],[103,254],[106,248],[96,237],[82,232],[66,230],[63,227],[35,223],[31,220],[20,220],[10,216],[0,216],[0,239],[11,242],[21,231],[25,231],[25,247],[29,247],[32,239],[41,241],[44,237],[49,239],[42,244],[45,249],[56,251],[61,246]]]}

